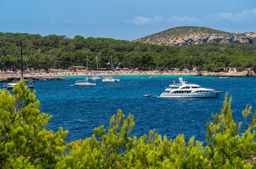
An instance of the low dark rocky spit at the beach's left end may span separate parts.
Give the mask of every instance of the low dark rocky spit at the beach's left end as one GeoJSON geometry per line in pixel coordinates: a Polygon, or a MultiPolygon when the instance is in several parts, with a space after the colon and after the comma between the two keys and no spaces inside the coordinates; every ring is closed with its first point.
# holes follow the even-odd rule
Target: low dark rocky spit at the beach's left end
{"type": "MultiPolygon", "coordinates": [[[[18,82],[21,80],[21,77],[0,77],[0,82],[18,82]]],[[[63,77],[24,77],[25,82],[36,80],[66,80],[66,78],[63,77]]]]}

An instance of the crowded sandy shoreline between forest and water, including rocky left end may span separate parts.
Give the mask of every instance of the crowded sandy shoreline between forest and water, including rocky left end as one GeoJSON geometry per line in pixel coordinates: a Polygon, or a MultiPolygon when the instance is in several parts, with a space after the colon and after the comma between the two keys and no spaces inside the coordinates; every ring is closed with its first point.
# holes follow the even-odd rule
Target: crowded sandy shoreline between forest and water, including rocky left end
{"type": "MultiPolygon", "coordinates": [[[[86,76],[86,71],[77,70],[61,71],[52,73],[23,73],[25,80],[30,78],[33,80],[65,80],[65,76],[86,76]]],[[[242,72],[219,72],[219,73],[208,73],[208,72],[182,72],[182,71],[169,71],[169,72],[158,72],[158,71],[99,71],[99,72],[88,72],[89,76],[112,76],[112,75],[189,75],[189,76],[209,76],[209,77],[248,77],[256,76],[252,69],[244,70],[242,72]]],[[[13,82],[21,79],[21,73],[1,73],[0,82],[13,82]]]]}

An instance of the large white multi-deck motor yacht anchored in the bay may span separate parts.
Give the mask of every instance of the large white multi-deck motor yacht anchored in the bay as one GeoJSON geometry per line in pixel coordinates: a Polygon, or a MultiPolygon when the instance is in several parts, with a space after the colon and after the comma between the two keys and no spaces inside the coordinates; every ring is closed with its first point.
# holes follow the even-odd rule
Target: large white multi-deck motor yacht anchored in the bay
{"type": "Polygon", "coordinates": [[[214,89],[203,88],[197,84],[187,84],[182,77],[179,78],[180,83],[170,84],[159,97],[161,98],[187,98],[187,97],[218,97],[223,91],[215,91],[214,89]]]}

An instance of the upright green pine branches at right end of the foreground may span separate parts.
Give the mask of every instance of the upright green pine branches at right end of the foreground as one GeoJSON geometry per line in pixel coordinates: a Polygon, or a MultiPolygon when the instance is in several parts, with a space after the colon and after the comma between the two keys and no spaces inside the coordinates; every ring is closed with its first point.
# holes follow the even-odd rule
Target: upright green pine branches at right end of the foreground
{"type": "MultiPolygon", "coordinates": [[[[232,96],[231,96],[232,99],[232,96]]],[[[234,123],[231,111],[231,99],[228,94],[223,102],[221,114],[214,115],[214,123],[207,123],[206,151],[211,160],[212,168],[252,168],[252,156],[256,153],[255,115],[248,129],[240,133],[242,123],[234,123]]],[[[245,122],[250,115],[250,108],[243,111],[245,122]]],[[[255,111],[256,114],[256,111],[255,111]]]]}

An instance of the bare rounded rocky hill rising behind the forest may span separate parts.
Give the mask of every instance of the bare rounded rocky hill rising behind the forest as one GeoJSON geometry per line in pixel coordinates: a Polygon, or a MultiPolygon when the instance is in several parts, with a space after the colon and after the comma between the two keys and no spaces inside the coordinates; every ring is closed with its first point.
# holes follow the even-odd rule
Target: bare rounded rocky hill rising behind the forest
{"type": "Polygon", "coordinates": [[[209,42],[219,43],[255,43],[256,32],[229,33],[213,30],[207,27],[174,27],[153,35],[141,37],[134,42],[165,45],[204,44],[209,42]]]}

